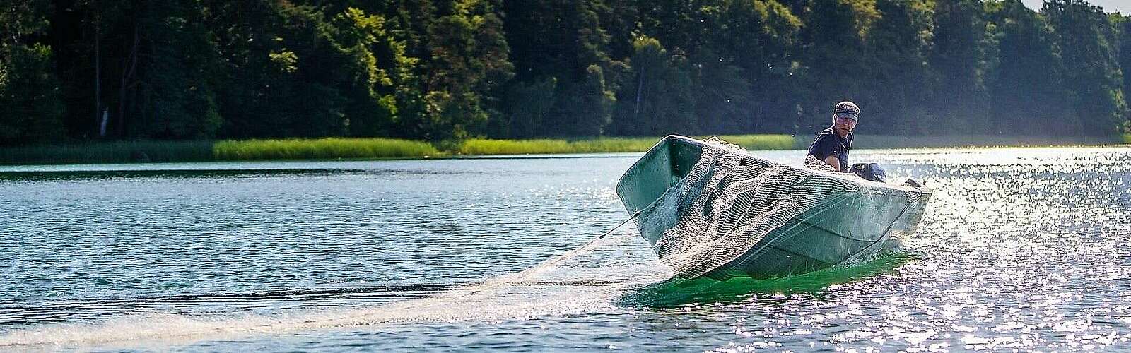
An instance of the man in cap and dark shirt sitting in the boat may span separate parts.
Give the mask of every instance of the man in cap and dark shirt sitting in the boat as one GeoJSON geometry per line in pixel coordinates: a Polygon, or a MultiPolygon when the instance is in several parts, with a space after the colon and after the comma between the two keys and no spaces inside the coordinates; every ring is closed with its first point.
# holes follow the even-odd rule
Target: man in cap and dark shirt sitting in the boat
{"type": "Polygon", "coordinates": [[[837,103],[832,112],[832,126],[817,136],[809,146],[809,155],[827,163],[837,172],[847,173],[852,129],[856,128],[857,120],[860,120],[860,107],[855,103],[848,101],[837,103]]]}

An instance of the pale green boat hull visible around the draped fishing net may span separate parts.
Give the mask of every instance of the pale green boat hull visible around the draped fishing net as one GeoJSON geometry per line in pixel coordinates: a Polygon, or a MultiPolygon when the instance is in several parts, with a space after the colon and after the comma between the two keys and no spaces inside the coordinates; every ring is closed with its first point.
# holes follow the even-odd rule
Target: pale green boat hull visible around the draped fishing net
{"type": "MultiPolygon", "coordinates": [[[[625,209],[648,217],[649,222],[638,219],[637,225],[641,236],[658,253],[662,251],[657,243],[662,243],[665,232],[681,222],[682,215],[672,207],[656,206],[670,205],[672,198],[687,196],[687,192],[679,192],[680,183],[702,157],[705,144],[681,136],[665,137],[618,183],[616,192],[625,209]]],[[[860,183],[865,188],[852,190],[866,191],[826,190],[812,207],[760,234],[757,241],[750,240],[753,246],[743,249],[741,255],[722,266],[681,274],[684,277],[782,277],[891,251],[915,232],[931,195],[929,188],[913,181],[904,186],[884,184],[851,174],[784,166],[739,149],[727,153],[741,154],[737,157],[756,166],[788,167],[792,173],[804,173],[798,187],[804,183],[860,183]]]]}

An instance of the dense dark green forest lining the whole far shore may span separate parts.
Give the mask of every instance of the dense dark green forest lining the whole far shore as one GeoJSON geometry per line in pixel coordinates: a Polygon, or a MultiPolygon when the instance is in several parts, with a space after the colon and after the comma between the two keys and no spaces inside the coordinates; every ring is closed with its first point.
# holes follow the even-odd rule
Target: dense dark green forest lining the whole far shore
{"type": "Polygon", "coordinates": [[[0,145],[1128,129],[1082,0],[12,0],[0,145]]]}

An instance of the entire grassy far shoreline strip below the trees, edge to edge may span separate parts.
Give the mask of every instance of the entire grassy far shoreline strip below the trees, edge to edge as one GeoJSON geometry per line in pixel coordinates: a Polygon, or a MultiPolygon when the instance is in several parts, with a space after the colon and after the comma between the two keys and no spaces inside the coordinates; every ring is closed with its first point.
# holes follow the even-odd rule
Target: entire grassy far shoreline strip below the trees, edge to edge
{"type": "MultiPolygon", "coordinates": [[[[720,139],[751,150],[801,149],[812,136],[731,135],[720,139]]],[[[659,137],[576,139],[468,139],[458,143],[388,138],[262,139],[218,141],[105,141],[0,148],[0,164],[86,164],[294,160],[444,158],[472,155],[644,152],[659,137]]],[[[861,148],[1039,147],[1131,144],[1131,134],[1111,137],[856,136],[861,148]]]]}

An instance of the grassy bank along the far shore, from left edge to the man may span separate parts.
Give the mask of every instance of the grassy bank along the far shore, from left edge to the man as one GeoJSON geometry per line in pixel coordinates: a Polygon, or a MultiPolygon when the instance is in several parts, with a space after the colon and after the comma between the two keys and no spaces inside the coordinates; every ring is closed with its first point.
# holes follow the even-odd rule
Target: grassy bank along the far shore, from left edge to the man
{"type": "MultiPolygon", "coordinates": [[[[788,135],[723,136],[748,149],[789,149],[788,135]]],[[[381,160],[447,155],[515,155],[644,152],[658,137],[585,139],[469,139],[441,144],[388,138],[262,139],[222,141],[113,141],[0,148],[0,164],[209,162],[283,160],[381,160]]]]}

